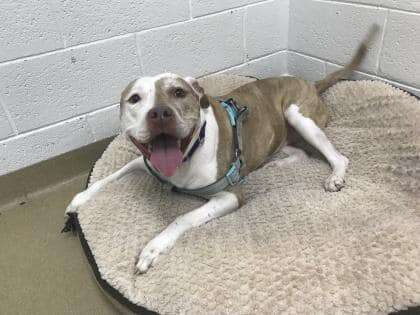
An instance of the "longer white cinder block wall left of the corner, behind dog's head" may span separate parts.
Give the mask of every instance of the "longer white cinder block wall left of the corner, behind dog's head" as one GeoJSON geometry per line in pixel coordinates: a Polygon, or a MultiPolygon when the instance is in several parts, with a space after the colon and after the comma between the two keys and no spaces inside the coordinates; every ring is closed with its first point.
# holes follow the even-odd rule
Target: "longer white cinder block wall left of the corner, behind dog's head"
{"type": "Polygon", "coordinates": [[[288,0],[0,2],[0,175],[118,131],[132,79],[287,72],[288,0]]]}

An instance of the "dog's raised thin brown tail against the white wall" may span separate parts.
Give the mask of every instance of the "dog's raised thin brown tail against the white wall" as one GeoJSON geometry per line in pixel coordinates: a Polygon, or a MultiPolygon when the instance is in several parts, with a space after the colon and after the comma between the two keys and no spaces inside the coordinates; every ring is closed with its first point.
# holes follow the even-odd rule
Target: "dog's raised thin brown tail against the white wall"
{"type": "Polygon", "coordinates": [[[351,74],[353,70],[356,70],[360,66],[366,56],[369,45],[373,42],[376,35],[379,33],[379,30],[379,25],[376,23],[373,24],[350,63],[344,66],[344,68],[327,75],[324,79],[315,82],[315,87],[318,93],[324,92],[330,86],[334,85],[341,79],[346,78],[351,74]]]}

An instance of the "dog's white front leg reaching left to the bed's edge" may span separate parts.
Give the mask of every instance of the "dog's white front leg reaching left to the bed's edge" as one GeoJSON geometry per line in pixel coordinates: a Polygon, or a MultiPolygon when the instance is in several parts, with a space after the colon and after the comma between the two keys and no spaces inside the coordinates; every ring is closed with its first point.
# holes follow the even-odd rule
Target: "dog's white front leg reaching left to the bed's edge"
{"type": "Polygon", "coordinates": [[[123,166],[121,169],[119,169],[115,173],[112,173],[111,175],[105,177],[104,179],[98,180],[97,182],[90,185],[89,188],[87,188],[85,191],[82,191],[78,193],[76,196],[74,196],[73,200],[67,206],[66,215],[77,212],[77,209],[81,205],[85,204],[94,195],[96,195],[99,191],[101,191],[102,188],[105,187],[105,185],[124,177],[125,175],[131,173],[132,171],[136,169],[145,169],[143,157],[138,157],[135,160],[127,163],[125,166],[123,166]]]}

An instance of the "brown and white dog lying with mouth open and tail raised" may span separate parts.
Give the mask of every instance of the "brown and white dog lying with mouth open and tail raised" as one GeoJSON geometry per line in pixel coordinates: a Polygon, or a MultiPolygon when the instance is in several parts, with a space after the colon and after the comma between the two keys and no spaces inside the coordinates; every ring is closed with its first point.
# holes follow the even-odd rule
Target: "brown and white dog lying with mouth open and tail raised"
{"type": "MultiPolygon", "coordinates": [[[[292,146],[296,134],[329,162],[332,172],[325,180],[325,190],[339,191],[345,184],[349,160],[335,149],[322,130],[328,112],[320,94],[359,67],[378,28],[375,25],[370,29],[347,66],[320,81],[268,78],[222,96],[222,100],[232,99],[247,106],[245,121],[236,122],[241,124],[239,137],[233,128],[235,121],[230,119],[232,115],[227,114],[219,100],[206,95],[196,79],[165,73],[132,81],[121,94],[120,120],[122,132],[142,154],[77,194],[66,214],[77,212],[106,184],[137,169],[151,171],[160,180],[187,191],[211,186],[225,178],[232,167],[239,151],[238,141],[241,176],[263,166],[279,150],[288,157],[271,163],[284,166],[306,155],[292,146]]],[[[240,182],[221,186],[221,191],[210,193],[203,206],[176,218],[141,251],[136,272],[146,272],[189,229],[241,207],[244,198],[240,182]]]]}

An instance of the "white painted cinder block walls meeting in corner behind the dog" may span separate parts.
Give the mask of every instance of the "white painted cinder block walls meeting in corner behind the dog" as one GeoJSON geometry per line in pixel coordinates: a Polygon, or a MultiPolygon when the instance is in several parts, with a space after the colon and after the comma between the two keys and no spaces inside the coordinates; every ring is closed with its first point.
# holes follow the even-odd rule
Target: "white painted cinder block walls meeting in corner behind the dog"
{"type": "Polygon", "coordinates": [[[316,80],[369,25],[380,40],[356,78],[420,95],[420,1],[0,2],[0,175],[118,131],[133,78],[163,71],[316,80]]]}

